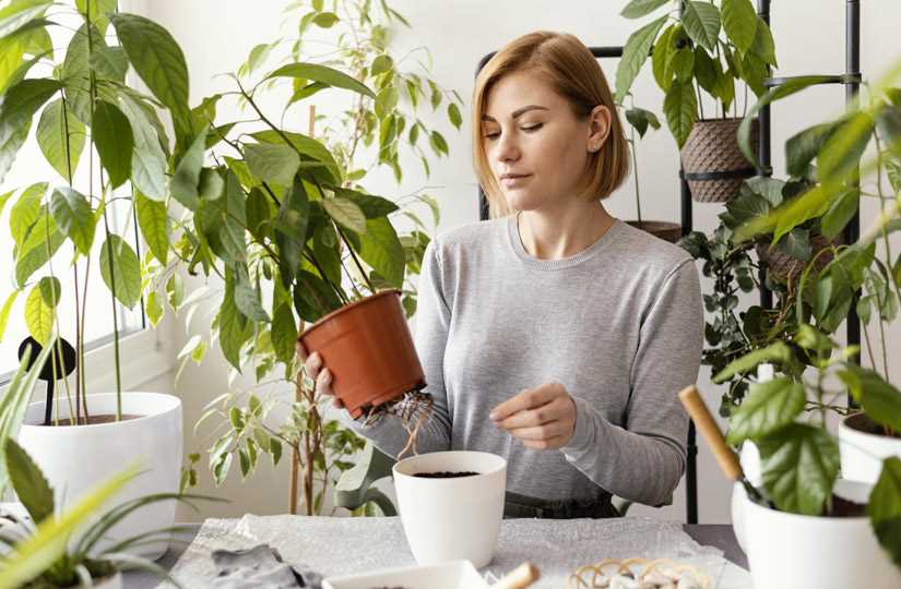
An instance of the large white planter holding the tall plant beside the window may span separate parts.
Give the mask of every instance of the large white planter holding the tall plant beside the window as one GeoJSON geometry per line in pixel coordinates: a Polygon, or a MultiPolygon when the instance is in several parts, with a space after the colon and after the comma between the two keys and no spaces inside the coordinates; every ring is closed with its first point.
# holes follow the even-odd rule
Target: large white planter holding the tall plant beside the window
{"type": "MultiPolygon", "coordinates": [[[[60,396],[60,416],[69,406],[60,396]]],[[[88,395],[91,414],[115,414],[116,395],[88,395]]],[[[44,471],[54,489],[57,507],[71,505],[85,491],[139,461],[141,474],[130,481],[105,506],[107,509],[141,496],[177,493],[181,469],[181,400],[159,393],[122,393],[122,413],[142,416],[96,425],[45,426],[44,401],[28,406],[19,443],[44,471]]],[[[175,501],[153,503],[115,526],[104,545],[171,526],[175,501]]],[[[131,550],[158,558],[168,543],[131,550]]]]}

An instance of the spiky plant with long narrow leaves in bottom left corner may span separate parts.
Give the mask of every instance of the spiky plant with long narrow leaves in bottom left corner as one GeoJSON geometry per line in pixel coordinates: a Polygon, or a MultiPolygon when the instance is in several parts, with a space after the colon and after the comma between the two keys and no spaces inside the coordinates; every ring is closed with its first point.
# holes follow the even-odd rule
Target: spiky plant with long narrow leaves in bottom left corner
{"type": "Polygon", "coordinates": [[[4,505],[0,514],[0,587],[82,587],[105,589],[121,587],[119,569],[122,566],[145,568],[163,579],[173,581],[168,574],[151,561],[133,554],[142,544],[168,542],[168,534],[181,530],[177,526],[161,527],[116,543],[104,542],[109,530],[134,512],[152,508],[164,501],[186,501],[188,495],[161,493],[102,508],[111,496],[140,476],[140,466],[133,462],[111,478],[99,481],[78,501],[69,502],[67,509],[57,509],[54,490],[28,453],[15,442],[19,428],[34,393],[38,374],[46,365],[50,351],[47,347],[28,360],[33,347],[24,353],[24,362],[13,376],[0,404],[0,495],[12,490],[21,501],[20,508],[4,505]]]}

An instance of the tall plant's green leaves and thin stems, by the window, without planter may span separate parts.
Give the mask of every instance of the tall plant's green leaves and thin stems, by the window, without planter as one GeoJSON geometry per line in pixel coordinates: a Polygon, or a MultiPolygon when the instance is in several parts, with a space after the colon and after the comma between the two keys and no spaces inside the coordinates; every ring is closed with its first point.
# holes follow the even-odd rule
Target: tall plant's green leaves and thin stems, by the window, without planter
{"type": "MultiPolygon", "coordinates": [[[[31,129],[58,175],[42,173],[34,183],[0,195],[0,207],[11,204],[15,243],[13,291],[0,310],[0,338],[20,296],[26,296],[28,330],[42,344],[55,332],[68,330],[59,325],[57,311],[60,304],[74,304],[79,370],[74,392],[68,378],[64,390],[70,421],[86,420],[85,300],[88,279],[99,274],[112,306],[118,419],[116,301],[134,308],[143,285],[138,254],[126,232],[111,230],[109,216],[112,208],[128,219],[137,216],[135,231],[168,261],[165,219],[173,146],[161,115],[171,118],[178,143],[193,136],[185,58],[162,26],[118,13],[115,0],[7,2],[0,9],[0,181],[31,129]],[[61,47],[51,43],[51,29],[55,39],[63,39],[61,47]],[[150,95],[129,85],[129,72],[150,95]],[[61,279],[60,272],[71,273],[71,281],[61,279]]],[[[52,358],[59,374],[57,354],[52,358]]]]}

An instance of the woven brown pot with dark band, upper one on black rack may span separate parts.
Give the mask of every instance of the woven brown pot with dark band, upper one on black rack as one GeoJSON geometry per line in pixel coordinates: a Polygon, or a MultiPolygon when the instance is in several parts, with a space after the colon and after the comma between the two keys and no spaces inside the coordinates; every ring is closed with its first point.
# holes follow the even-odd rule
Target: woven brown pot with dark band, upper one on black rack
{"type": "MultiPolygon", "coordinates": [[[[710,119],[695,122],[679,155],[691,197],[701,203],[728,201],[742,181],[756,170],[738,148],[742,119],[710,119]]],[[[757,120],[751,124],[751,145],[757,151],[757,120]]]]}

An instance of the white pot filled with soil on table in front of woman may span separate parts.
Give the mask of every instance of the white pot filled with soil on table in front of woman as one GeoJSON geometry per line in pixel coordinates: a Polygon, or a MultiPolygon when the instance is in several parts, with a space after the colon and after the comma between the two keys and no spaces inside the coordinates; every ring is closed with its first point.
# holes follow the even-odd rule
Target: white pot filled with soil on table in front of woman
{"type": "Polygon", "coordinates": [[[503,518],[507,460],[484,452],[436,452],[401,460],[393,470],[401,521],[418,564],[466,560],[479,568],[491,561],[503,518]],[[478,474],[414,477],[439,471],[478,474]]]}

